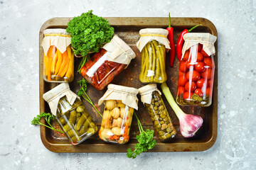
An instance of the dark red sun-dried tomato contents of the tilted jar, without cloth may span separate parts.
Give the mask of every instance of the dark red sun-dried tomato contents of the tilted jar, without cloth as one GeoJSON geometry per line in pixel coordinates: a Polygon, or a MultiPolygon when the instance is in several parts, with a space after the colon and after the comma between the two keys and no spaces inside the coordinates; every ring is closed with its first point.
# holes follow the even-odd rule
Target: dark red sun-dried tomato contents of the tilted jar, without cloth
{"type": "Polygon", "coordinates": [[[116,77],[127,64],[121,64],[107,60],[107,51],[100,49],[85,63],[81,69],[81,75],[97,90],[105,89],[107,84],[116,77]]]}

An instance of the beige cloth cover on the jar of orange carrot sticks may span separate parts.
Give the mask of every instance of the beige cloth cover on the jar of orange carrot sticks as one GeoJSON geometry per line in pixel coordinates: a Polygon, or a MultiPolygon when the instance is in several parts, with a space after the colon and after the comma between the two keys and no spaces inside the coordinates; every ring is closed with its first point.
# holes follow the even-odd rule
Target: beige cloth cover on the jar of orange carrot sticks
{"type": "Polygon", "coordinates": [[[41,45],[45,54],[47,54],[51,45],[54,45],[63,53],[68,45],[71,44],[71,35],[66,32],[65,29],[47,29],[43,31],[43,35],[45,35],[45,37],[41,45]]]}

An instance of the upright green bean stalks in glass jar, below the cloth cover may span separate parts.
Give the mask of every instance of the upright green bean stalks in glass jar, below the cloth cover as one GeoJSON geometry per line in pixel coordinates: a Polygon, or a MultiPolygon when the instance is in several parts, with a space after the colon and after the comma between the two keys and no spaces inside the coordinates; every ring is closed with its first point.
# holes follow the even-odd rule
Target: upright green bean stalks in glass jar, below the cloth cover
{"type": "Polygon", "coordinates": [[[142,50],[142,83],[164,83],[166,76],[166,48],[156,40],[148,42],[142,50]]]}

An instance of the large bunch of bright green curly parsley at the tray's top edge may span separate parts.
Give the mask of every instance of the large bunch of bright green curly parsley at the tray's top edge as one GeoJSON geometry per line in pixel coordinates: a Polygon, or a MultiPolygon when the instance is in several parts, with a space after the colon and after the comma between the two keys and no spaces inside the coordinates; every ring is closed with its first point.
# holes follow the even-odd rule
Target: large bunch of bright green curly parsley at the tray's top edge
{"type": "Polygon", "coordinates": [[[100,47],[110,42],[114,35],[114,28],[110,23],[92,14],[92,10],[70,20],[66,30],[72,36],[71,45],[75,55],[82,56],[89,52],[98,52],[100,47]]]}

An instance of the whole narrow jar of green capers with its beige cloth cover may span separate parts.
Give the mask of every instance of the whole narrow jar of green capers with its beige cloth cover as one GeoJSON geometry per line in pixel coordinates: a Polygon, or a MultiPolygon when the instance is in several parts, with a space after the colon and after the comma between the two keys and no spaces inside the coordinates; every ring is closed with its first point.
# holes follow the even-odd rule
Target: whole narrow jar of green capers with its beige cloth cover
{"type": "Polygon", "coordinates": [[[142,103],[146,106],[154,128],[161,141],[170,140],[177,134],[164,101],[161,98],[161,92],[157,89],[156,84],[148,84],[139,89],[142,103]]]}

